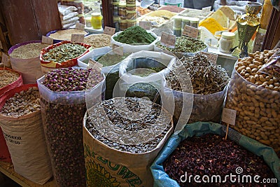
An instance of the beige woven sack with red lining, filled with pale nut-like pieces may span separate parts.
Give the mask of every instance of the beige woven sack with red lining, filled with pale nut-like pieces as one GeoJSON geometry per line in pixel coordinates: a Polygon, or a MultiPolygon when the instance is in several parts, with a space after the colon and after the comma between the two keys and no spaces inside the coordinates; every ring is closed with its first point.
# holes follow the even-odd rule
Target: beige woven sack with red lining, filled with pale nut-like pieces
{"type": "Polygon", "coordinates": [[[0,125],[15,172],[34,183],[47,182],[52,167],[36,84],[21,85],[0,98],[0,125]]]}

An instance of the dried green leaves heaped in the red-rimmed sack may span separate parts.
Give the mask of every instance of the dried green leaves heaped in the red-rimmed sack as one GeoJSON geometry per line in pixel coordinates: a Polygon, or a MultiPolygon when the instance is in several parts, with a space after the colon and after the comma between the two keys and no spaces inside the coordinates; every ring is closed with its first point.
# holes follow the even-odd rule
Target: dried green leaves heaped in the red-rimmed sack
{"type": "Polygon", "coordinates": [[[62,63],[82,55],[86,50],[87,48],[79,44],[64,43],[43,54],[43,60],[62,63]]]}

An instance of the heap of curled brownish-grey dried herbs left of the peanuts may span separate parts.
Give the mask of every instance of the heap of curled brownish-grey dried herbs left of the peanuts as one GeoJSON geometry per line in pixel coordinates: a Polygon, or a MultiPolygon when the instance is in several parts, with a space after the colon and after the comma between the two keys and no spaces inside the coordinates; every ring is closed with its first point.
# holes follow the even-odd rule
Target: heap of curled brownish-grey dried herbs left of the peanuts
{"type": "Polygon", "coordinates": [[[223,67],[211,63],[207,56],[202,54],[194,57],[182,57],[181,64],[176,64],[173,68],[167,75],[167,85],[176,91],[184,91],[178,78],[185,69],[193,84],[193,93],[197,95],[221,92],[230,81],[230,77],[223,67]]]}

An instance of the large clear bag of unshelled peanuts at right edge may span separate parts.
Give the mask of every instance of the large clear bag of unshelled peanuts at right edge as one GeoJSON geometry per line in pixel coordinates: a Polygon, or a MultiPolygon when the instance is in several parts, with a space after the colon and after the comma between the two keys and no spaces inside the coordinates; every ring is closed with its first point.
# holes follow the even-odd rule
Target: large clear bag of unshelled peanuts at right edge
{"type": "Polygon", "coordinates": [[[225,107],[237,111],[235,130],[280,151],[280,81],[258,71],[275,52],[264,50],[238,60],[225,107]]]}

